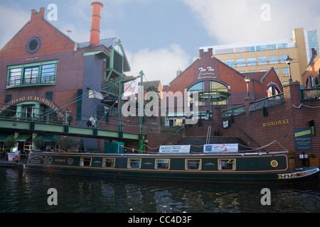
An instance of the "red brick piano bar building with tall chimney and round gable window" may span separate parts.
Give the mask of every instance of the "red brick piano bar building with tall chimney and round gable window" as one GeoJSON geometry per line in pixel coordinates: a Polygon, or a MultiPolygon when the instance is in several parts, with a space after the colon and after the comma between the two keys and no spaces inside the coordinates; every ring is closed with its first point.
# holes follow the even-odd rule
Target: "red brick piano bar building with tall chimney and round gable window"
{"type": "MultiPolygon", "coordinates": [[[[82,120],[84,125],[90,115],[103,115],[105,105],[90,99],[88,92],[119,96],[117,79],[130,67],[119,38],[100,40],[102,7],[92,2],[90,41],[86,43],[75,42],[46,21],[45,8],[31,10],[31,20],[0,50],[2,116],[36,116],[39,121],[65,123],[66,112],[72,112],[68,119],[82,120]]],[[[31,148],[35,136],[23,140],[24,148],[31,148]]],[[[87,139],[85,147],[98,149],[97,144],[87,139]]]]}

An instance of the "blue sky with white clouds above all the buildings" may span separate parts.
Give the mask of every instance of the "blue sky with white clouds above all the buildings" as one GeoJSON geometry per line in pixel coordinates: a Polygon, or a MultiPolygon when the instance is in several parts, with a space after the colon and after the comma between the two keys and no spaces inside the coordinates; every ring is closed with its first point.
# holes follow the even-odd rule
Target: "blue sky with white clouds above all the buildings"
{"type": "MultiPolygon", "coordinates": [[[[100,39],[119,37],[131,72],[169,84],[199,48],[292,38],[294,28],[320,31],[319,0],[100,0],[100,39]]],[[[0,48],[46,7],[46,19],[78,43],[89,41],[90,0],[0,0],[0,48]],[[51,8],[52,4],[56,7],[51,8]]]]}

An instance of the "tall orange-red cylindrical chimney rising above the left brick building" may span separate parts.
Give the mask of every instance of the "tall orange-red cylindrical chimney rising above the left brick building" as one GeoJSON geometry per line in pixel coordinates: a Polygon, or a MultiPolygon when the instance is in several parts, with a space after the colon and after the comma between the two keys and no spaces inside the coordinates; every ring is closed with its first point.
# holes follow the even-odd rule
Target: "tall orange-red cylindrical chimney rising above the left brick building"
{"type": "Polygon", "coordinates": [[[100,22],[103,4],[100,1],[92,1],[90,45],[100,44],[100,22]]]}

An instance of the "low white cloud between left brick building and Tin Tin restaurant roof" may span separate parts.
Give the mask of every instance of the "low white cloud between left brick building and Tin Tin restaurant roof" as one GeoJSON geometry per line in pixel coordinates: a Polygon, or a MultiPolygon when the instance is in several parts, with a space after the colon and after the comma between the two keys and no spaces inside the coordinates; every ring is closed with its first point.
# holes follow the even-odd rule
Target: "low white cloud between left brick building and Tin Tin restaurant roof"
{"type": "Polygon", "coordinates": [[[126,53],[131,66],[128,75],[136,75],[142,70],[148,81],[161,80],[162,85],[169,84],[176,77],[179,67],[183,70],[190,64],[190,56],[177,44],[158,50],[146,48],[137,53],[126,53]]]}

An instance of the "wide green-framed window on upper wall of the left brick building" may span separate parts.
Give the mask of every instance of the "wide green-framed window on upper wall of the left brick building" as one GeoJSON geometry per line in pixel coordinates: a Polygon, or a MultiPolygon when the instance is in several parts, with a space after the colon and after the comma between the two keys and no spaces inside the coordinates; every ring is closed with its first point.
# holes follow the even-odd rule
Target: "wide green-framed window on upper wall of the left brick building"
{"type": "Polygon", "coordinates": [[[32,85],[54,85],[58,60],[8,67],[6,88],[32,85]]]}

